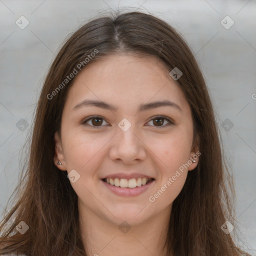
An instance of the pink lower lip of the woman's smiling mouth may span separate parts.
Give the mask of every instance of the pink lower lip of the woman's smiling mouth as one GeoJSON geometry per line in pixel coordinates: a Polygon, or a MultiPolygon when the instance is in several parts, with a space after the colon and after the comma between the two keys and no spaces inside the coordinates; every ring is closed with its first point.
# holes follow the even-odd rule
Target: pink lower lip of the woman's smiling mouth
{"type": "Polygon", "coordinates": [[[129,187],[120,187],[120,186],[115,186],[115,185],[110,185],[106,183],[105,181],[101,180],[104,185],[110,189],[113,193],[121,196],[135,196],[143,193],[146,191],[154,182],[154,179],[146,183],[145,185],[141,186],[136,186],[134,188],[129,188],[129,187]]]}

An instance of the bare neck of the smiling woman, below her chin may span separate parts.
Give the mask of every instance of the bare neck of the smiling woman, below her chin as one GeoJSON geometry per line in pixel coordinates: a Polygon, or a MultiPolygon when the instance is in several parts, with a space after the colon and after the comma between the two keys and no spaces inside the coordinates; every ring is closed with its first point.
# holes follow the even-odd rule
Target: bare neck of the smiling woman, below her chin
{"type": "Polygon", "coordinates": [[[82,242],[86,255],[166,255],[164,247],[171,205],[143,223],[120,224],[104,219],[78,203],[82,242]]]}

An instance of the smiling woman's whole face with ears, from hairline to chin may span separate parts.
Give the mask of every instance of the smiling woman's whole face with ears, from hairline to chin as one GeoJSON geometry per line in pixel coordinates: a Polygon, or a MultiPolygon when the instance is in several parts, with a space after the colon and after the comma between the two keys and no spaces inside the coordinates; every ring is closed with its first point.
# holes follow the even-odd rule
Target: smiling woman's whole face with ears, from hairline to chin
{"type": "Polygon", "coordinates": [[[76,75],[54,162],[67,170],[83,214],[138,224],[170,213],[198,148],[189,104],[169,71],[156,57],[121,54],[76,75]]]}

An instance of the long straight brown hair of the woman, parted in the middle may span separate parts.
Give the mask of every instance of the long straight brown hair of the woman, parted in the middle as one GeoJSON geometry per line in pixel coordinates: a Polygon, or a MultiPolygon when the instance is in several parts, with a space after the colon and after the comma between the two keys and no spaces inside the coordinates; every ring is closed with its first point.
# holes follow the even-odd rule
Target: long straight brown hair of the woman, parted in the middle
{"type": "Polygon", "coordinates": [[[166,240],[168,254],[241,255],[230,234],[220,228],[226,220],[233,221],[227,185],[231,192],[233,186],[200,68],[173,27],[137,11],[90,20],[65,41],[56,55],[38,100],[28,166],[20,178],[15,204],[1,221],[0,254],[86,255],[79,232],[77,195],[67,173],[53,163],[53,136],[60,131],[62,109],[73,79],[63,81],[79,63],[86,68],[89,63],[85,63],[85,57],[95,51],[90,62],[116,51],[133,52],[157,56],[169,70],[178,67],[182,71],[176,82],[191,107],[201,155],[173,202],[166,240]],[[23,234],[15,231],[20,221],[29,227],[23,234]]]}

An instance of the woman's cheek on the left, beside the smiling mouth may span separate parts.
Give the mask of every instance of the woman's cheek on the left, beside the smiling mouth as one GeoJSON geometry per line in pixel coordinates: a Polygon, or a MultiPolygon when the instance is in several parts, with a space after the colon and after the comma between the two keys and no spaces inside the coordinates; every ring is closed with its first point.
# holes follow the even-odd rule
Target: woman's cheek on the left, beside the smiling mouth
{"type": "MultiPolygon", "coordinates": [[[[92,203],[91,193],[95,193],[98,182],[98,176],[94,173],[104,158],[103,146],[108,140],[108,137],[102,137],[99,133],[92,136],[78,132],[66,135],[62,141],[67,172],[75,169],[79,177],[75,182],[70,181],[70,184],[78,197],[89,204],[92,203]]],[[[96,201],[93,203],[97,204],[96,201]]]]}

